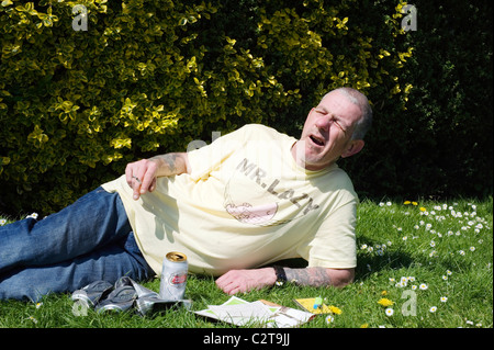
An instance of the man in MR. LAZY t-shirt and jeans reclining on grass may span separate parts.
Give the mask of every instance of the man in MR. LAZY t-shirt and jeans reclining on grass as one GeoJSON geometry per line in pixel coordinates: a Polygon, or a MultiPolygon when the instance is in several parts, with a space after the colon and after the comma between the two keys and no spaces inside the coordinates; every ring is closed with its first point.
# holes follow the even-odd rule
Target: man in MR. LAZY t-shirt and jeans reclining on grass
{"type": "Polygon", "coordinates": [[[343,286],[356,267],[357,195],[340,157],[363,147],[372,111],[327,93],[300,139],[246,125],[211,145],[143,159],[60,212],[0,227],[0,298],[37,300],[161,272],[170,251],[235,294],[288,280],[343,286]],[[304,269],[261,268],[303,258],[304,269]]]}

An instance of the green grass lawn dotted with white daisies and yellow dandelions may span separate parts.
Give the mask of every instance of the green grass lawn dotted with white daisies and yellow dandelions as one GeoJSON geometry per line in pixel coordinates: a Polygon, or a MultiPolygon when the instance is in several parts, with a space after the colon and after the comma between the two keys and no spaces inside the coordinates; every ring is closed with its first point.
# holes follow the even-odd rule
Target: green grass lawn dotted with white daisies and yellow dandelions
{"type": "MultiPolygon", "coordinates": [[[[355,283],[341,290],[283,285],[237,295],[296,307],[294,298],[322,296],[341,313],[319,315],[302,328],[492,328],[493,200],[447,203],[374,203],[358,210],[355,283]]],[[[0,222],[0,225],[2,222],[0,222]]],[[[3,222],[4,224],[4,222],[3,222]]],[[[158,291],[159,280],[143,283],[158,291]]],[[[209,276],[190,275],[192,309],[229,296],[209,276]]],[[[229,328],[189,313],[168,309],[86,316],[72,312],[69,295],[41,303],[0,301],[0,327],[15,328],[229,328]]]]}

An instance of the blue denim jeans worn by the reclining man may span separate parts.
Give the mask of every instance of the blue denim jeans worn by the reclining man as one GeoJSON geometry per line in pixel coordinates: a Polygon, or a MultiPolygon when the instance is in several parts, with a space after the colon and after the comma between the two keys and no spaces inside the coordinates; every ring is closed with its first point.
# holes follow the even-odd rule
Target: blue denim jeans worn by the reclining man
{"type": "Polygon", "coordinates": [[[142,281],[154,274],[119,194],[102,188],[43,219],[0,227],[0,300],[38,301],[99,280],[142,281]]]}

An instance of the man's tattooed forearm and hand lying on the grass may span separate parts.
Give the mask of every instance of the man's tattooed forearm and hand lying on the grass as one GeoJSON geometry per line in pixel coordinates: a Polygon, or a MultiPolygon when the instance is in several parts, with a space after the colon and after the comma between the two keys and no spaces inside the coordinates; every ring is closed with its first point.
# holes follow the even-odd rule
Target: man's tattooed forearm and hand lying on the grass
{"type": "MultiPolygon", "coordinates": [[[[287,281],[297,285],[345,286],[353,281],[353,269],[284,268],[287,281]]],[[[216,285],[227,294],[245,293],[272,286],[277,282],[273,268],[232,270],[216,280],[216,285]]]]}

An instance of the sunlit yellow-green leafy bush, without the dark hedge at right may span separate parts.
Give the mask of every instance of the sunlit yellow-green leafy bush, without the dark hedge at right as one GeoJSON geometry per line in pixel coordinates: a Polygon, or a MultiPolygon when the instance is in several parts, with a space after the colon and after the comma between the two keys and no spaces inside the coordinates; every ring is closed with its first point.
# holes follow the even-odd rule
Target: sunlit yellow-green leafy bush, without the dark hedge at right
{"type": "Polygon", "coordinates": [[[402,5],[2,1],[0,211],[58,210],[212,131],[265,123],[297,136],[339,86],[397,118],[412,88],[402,5]]]}

